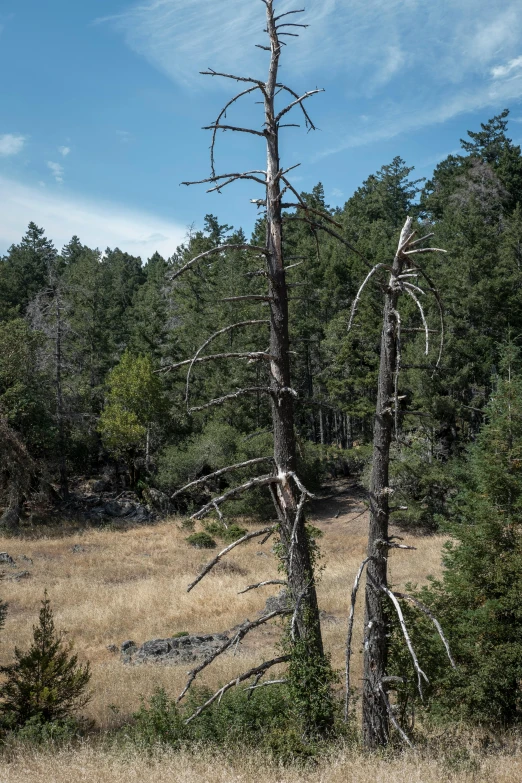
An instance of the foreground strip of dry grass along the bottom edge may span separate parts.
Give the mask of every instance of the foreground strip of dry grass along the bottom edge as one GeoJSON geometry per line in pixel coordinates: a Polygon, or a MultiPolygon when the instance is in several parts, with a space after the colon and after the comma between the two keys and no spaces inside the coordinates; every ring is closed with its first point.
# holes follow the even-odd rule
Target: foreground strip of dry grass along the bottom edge
{"type": "Polygon", "coordinates": [[[522,759],[471,758],[455,769],[450,757],[396,758],[341,751],[320,766],[281,767],[255,753],[223,757],[209,752],[161,753],[148,758],[85,746],[56,753],[15,754],[0,772],[2,783],[520,783],[522,759]]]}

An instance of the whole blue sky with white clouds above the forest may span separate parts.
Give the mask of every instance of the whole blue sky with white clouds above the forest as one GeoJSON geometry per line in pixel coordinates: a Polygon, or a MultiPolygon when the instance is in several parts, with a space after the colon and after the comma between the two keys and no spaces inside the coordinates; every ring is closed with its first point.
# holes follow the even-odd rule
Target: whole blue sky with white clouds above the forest
{"type": "MultiPolygon", "coordinates": [[[[341,205],[395,155],[429,176],[505,107],[522,140],[520,0],[304,4],[310,26],[288,39],[281,78],[325,92],[308,104],[320,130],[282,131],[300,190],[322,181],[341,205]]],[[[249,231],[254,183],[222,195],[179,183],[208,176],[200,128],[234,94],[198,72],[264,78],[263,22],[260,0],[0,0],[0,252],[30,220],[58,247],[76,233],[143,258],[171,255],[208,212],[249,231]]],[[[259,127],[260,110],[247,98],[228,119],[259,127]]],[[[262,139],[220,139],[221,171],[263,164],[262,139]]]]}

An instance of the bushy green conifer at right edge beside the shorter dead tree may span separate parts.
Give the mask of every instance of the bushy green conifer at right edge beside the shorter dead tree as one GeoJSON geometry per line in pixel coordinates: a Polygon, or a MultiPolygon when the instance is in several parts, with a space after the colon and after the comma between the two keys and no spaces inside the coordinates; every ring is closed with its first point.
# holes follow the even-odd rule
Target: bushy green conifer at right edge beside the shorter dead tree
{"type": "Polygon", "coordinates": [[[455,671],[426,618],[413,623],[410,608],[407,617],[421,666],[431,675],[432,711],[513,724],[522,718],[520,376],[498,382],[486,412],[469,453],[467,486],[452,503],[455,541],[446,548],[443,578],[418,593],[446,631],[455,671]]]}

